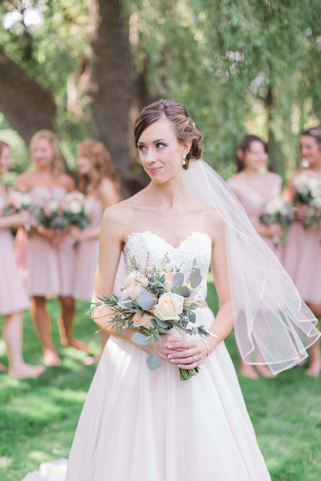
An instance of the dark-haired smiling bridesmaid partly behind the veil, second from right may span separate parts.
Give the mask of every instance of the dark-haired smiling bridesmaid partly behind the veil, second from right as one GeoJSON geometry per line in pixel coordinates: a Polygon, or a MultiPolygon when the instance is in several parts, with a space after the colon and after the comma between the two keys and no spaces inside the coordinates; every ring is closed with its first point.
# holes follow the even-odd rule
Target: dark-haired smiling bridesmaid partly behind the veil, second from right
{"type": "MultiPolygon", "coordinates": [[[[264,206],[268,200],[281,195],[282,179],[278,174],[267,171],[268,152],[262,139],[255,135],[245,135],[236,152],[237,174],[228,184],[240,200],[249,220],[256,231],[281,259],[281,245],[275,246],[273,238],[280,237],[284,230],[280,224],[264,225],[260,222],[264,206]]],[[[240,372],[251,379],[258,378],[258,371],[264,377],[273,374],[267,366],[240,364],[240,372]]]]}

